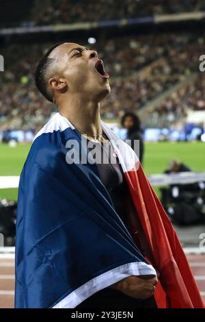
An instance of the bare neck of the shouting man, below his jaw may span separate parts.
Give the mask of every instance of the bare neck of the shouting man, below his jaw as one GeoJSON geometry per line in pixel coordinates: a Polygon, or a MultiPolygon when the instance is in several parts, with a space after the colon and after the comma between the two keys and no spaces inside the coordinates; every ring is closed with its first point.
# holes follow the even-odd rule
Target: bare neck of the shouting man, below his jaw
{"type": "Polygon", "coordinates": [[[58,104],[59,114],[66,117],[74,127],[96,136],[102,132],[100,124],[100,103],[88,101],[75,95],[58,104]]]}

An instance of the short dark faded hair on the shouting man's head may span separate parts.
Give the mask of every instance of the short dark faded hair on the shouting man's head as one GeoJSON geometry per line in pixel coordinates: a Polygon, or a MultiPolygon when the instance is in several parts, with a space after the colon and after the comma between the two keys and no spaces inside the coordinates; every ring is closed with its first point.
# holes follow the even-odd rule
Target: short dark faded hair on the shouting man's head
{"type": "Polygon", "coordinates": [[[48,79],[47,75],[49,70],[51,70],[51,66],[55,58],[49,58],[49,55],[53,49],[58,47],[59,45],[64,44],[64,42],[59,42],[58,44],[53,45],[46,54],[41,58],[40,62],[38,62],[38,66],[36,67],[35,73],[35,83],[38,90],[41,94],[53,103],[53,95],[51,90],[48,88],[48,79]]]}

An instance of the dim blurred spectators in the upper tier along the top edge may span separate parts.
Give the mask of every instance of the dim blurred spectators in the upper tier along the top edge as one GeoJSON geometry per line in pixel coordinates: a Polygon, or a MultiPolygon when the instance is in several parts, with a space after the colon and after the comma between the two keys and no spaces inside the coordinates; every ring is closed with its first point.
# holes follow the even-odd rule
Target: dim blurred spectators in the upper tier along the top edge
{"type": "Polygon", "coordinates": [[[205,10],[200,0],[36,0],[31,21],[38,25],[133,18],[205,10]]]}

